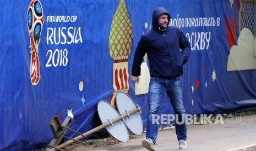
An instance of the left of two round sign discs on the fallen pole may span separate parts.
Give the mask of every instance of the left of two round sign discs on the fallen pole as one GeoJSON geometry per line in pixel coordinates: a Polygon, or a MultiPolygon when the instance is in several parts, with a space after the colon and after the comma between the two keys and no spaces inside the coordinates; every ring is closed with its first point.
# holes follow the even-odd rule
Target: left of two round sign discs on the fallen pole
{"type": "MultiPolygon", "coordinates": [[[[104,100],[101,100],[97,104],[97,112],[102,124],[120,116],[116,109],[112,107],[110,103],[104,100]]],[[[129,140],[128,130],[122,120],[107,126],[106,129],[110,135],[115,137],[120,142],[127,142],[129,140]]]]}

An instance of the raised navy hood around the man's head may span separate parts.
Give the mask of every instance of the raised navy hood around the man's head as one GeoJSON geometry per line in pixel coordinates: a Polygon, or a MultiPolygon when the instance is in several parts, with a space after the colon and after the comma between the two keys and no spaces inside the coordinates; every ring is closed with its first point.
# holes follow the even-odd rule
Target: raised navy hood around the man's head
{"type": "Polygon", "coordinates": [[[154,9],[153,15],[152,15],[152,26],[153,26],[154,30],[159,30],[158,19],[162,14],[168,15],[168,17],[169,17],[168,25],[169,25],[169,22],[171,19],[170,14],[168,13],[168,11],[165,8],[158,7],[158,8],[154,9]]]}

